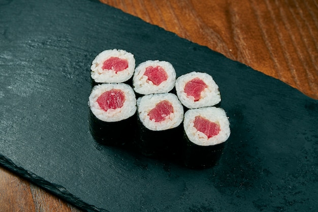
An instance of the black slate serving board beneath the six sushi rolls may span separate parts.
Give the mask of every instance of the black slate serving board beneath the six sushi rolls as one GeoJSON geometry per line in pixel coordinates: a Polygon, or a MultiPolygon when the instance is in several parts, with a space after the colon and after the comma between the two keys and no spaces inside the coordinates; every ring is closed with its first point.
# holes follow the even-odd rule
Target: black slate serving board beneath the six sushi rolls
{"type": "Polygon", "coordinates": [[[88,211],[318,208],[318,102],[279,80],[91,1],[0,3],[0,162],[88,211]],[[219,85],[232,134],[192,170],[96,143],[89,67],[105,49],[167,60],[219,85]]]}

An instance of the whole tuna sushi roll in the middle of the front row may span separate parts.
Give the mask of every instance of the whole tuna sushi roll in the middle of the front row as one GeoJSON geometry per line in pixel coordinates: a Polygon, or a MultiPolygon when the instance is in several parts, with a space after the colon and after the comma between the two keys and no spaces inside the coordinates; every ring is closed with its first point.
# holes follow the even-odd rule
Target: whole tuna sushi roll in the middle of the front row
{"type": "Polygon", "coordinates": [[[137,146],[145,156],[175,155],[182,138],[183,106],[171,93],[138,98],[137,146]]]}

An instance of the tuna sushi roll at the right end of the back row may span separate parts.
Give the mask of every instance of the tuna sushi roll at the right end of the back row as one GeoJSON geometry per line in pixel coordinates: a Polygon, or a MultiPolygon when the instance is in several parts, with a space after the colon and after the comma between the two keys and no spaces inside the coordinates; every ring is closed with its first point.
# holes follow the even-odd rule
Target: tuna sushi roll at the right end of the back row
{"type": "Polygon", "coordinates": [[[176,93],[181,103],[189,108],[215,106],[221,101],[213,78],[202,72],[190,72],[177,78],[176,93]]]}

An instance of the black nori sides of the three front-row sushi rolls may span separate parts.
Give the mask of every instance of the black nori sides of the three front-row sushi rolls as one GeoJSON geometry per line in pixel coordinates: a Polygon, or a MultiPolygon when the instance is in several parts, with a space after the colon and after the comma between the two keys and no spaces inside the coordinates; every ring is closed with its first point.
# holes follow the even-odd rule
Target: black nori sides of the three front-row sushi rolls
{"type": "Polygon", "coordinates": [[[107,123],[89,111],[89,131],[97,146],[190,169],[216,165],[225,146],[224,143],[199,146],[189,142],[182,124],[175,129],[151,131],[138,122],[137,114],[120,122],[107,123]]]}

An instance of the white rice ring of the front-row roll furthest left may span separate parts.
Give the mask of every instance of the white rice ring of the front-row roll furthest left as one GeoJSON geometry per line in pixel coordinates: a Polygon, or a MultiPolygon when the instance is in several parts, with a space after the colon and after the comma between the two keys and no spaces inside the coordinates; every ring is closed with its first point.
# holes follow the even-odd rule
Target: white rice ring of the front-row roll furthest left
{"type": "Polygon", "coordinates": [[[96,85],[92,88],[89,96],[88,106],[92,113],[100,120],[104,122],[118,122],[120,120],[131,117],[137,110],[137,100],[134,90],[131,86],[124,83],[104,83],[96,85]],[[116,109],[103,110],[97,103],[97,99],[108,90],[120,89],[124,92],[123,106],[116,109]]]}

